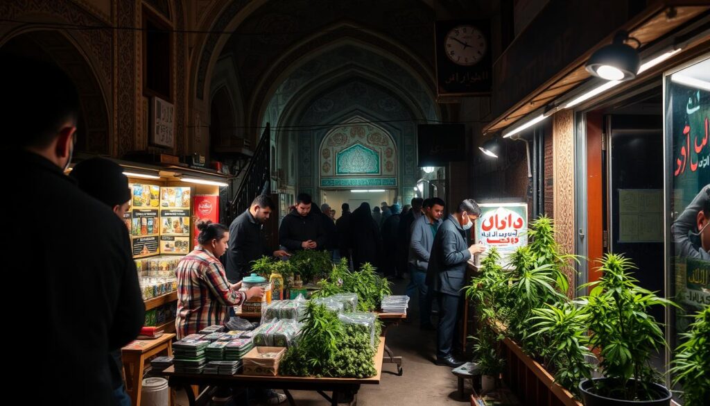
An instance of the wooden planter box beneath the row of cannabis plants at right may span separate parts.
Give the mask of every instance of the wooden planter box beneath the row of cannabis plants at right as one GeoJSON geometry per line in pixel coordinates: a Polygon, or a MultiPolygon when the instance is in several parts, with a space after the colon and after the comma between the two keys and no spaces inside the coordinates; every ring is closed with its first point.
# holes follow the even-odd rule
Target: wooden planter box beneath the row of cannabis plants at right
{"type": "Polygon", "coordinates": [[[506,370],[503,380],[520,399],[529,406],[582,406],[572,393],[555,383],[554,378],[537,361],[530,358],[510,338],[504,338],[503,356],[506,370]]]}

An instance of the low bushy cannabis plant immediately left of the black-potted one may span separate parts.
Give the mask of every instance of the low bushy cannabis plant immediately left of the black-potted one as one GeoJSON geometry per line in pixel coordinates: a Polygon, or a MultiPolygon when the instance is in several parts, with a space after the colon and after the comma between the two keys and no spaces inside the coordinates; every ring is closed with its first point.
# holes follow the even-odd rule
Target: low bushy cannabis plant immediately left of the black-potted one
{"type": "Polygon", "coordinates": [[[589,314],[574,301],[547,304],[544,308],[533,309],[532,313],[535,316],[530,320],[535,325],[530,336],[545,335],[549,344],[540,354],[545,365],[555,374],[555,381],[562,388],[579,395],[579,382],[583,378],[590,379],[594,369],[588,360],[594,358],[586,336],[589,314]]]}

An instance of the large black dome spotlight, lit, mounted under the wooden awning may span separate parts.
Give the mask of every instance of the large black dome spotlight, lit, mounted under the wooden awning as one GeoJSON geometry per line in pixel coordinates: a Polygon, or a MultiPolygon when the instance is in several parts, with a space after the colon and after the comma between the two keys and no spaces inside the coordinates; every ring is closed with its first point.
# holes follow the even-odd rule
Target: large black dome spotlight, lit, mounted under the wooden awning
{"type": "MultiPolygon", "coordinates": [[[[631,80],[636,77],[641,60],[636,48],[626,41],[631,40],[641,46],[638,39],[628,36],[626,31],[619,31],[613,43],[603,46],[591,55],[586,62],[586,70],[605,80],[631,80]]],[[[638,47],[637,47],[638,48],[638,47]]]]}

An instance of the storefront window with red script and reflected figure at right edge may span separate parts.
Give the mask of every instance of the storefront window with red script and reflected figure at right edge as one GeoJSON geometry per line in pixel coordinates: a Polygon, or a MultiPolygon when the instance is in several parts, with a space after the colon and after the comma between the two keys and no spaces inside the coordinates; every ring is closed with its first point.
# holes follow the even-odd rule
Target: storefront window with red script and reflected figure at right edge
{"type": "Polygon", "coordinates": [[[669,343],[677,346],[690,319],[710,305],[710,55],[665,75],[667,202],[670,246],[669,343]]]}

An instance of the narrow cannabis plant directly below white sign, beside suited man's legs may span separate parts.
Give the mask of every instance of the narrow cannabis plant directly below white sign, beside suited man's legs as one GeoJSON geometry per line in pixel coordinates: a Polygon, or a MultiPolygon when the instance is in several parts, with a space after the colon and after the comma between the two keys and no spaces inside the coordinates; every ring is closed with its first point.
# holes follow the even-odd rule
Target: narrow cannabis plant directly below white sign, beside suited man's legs
{"type": "Polygon", "coordinates": [[[500,352],[503,334],[495,328],[497,309],[501,306],[506,273],[503,272],[501,255],[495,247],[481,260],[480,273],[471,279],[466,297],[474,303],[479,316],[478,335],[474,339],[474,354],[481,373],[482,393],[493,390],[496,377],[503,372],[505,361],[500,352]]]}

